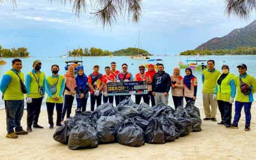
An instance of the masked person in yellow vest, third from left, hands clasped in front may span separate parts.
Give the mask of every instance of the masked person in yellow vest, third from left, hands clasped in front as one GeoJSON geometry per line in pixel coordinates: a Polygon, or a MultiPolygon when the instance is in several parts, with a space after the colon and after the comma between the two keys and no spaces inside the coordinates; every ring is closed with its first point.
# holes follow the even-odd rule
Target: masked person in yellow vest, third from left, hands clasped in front
{"type": "Polygon", "coordinates": [[[56,105],[57,120],[56,125],[61,126],[61,113],[63,106],[63,91],[65,88],[64,76],[58,75],[59,67],[57,64],[52,65],[52,76],[46,78],[46,107],[48,114],[49,129],[53,129],[53,110],[56,105]]]}

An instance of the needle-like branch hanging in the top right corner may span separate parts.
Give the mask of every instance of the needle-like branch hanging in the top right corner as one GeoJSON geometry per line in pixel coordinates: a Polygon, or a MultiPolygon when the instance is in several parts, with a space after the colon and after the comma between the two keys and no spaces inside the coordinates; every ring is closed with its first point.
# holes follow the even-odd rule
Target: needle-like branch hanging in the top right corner
{"type": "Polygon", "coordinates": [[[250,13],[256,9],[256,0],[225,0],[227,16],[237,16],[242,19],[250,17],[250,13]]]}

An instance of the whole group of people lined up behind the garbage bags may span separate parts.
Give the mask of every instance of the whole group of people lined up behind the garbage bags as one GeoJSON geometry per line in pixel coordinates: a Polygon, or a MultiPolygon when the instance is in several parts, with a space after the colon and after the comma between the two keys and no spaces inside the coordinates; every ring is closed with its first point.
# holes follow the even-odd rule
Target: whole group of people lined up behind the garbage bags
{"type": "MultiPolygon", "coordinates": [[[[217,103],[221,113],[221,122],[227,128],[238,128],[241,108],[244,106],[246,124],[245,130],[250,131],[250,107],[253,102],[253,93],[256,92],[256,79],[246,73],[247,66],[240,64],[239,75],[234,76],[229,73],[227,65],[222,66],[222,73],[215,69],[213,60],[207,61],[208,69],[202,73],[203,82],[203,105],[204,120],[216,120],[217,103]],[[246,92],[246,93],[245,93],[246,92]],[[235,102],[235,119],[231,124],[232,103],[235,102]],[[211,108],[210,108],[211,106],[211,108]]],[[[45,93],[47,93],[46,106],[48,114],[49,129],[54,126],[53,111],[56,106],[57,119],[56,126],[64,124],[65,116],[70,117],[73,101],[76,97],[77,108],[82,112],[86,111],[87,99],[90,96],[90,110],[94,111],[96,106],[103,103],[113,103],[116,105],[123,99],[131,96],[109,96],[107,85],[109,82],[145,81],[148,86],[147,94],[135,95],[136,104],[140,104],[141,99],[149,105],[157,105],[161,102],[168,105],[169,91],[171,90],[175,109],[183,107],[183,99],[186,102],[195,102],[197,99],[198,80],[192,74],[190,68],[186,68],[185,76],[180,76],[180,68],[175,67],[173,75],[170,76],[164,71],[163,64],[157,64],[157,71],[153,64],[140,65],[139,73],[133,76],[128,72],[128,65],[122,64],[122,72],[116,70],[116,62],[111,62],[110,67],[105,67],[105,74],[99,73],[99,65],[93,66],[93,73],[86,76],[83,69],[78,70],[75,76],[75,67],[68,66],[64,76],[59,75],[60,70],[57,64],[51,67],[51,76],[45,76],[41,72],[42,63],[39,60],[33,62],[33,69],[26,75],[21,72],[22,61],[18,58],[12,61],[12,69],[7,71],[2,78],[0,90],[6,108],[7,138],[17,138],[18,135],[32,132],[32,128],[44,128],[38,125],[38,117],[41,111],[41,104],[45,93]],[[90,94],[89,94],[90,93],[90,94]],[[24,94],[27,103],[27,128],[23,130],[20,120],[23,116],[24,94]],[[14,131],[15,128],[15,131],[14,131]]]]}

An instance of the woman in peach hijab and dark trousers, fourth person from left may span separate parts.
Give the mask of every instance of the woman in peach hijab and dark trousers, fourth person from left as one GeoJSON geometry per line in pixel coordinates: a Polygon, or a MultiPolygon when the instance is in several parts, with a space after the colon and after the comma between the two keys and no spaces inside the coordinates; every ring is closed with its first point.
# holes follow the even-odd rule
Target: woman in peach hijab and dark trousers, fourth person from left
{"type": "Polygon", "coordinates": [[[68,66],[68,73],[64,74],[65,77],[65,100],[64,100],[64,108],[61,116],[61,123],[64,124],[64,117],[67,111],[67,118],[70,117],[71,109],[73,105],[73,101],[76,95],[75,87],[76,87],[76,79],[75,79],[75,67],[73,65],[68,66]]]}

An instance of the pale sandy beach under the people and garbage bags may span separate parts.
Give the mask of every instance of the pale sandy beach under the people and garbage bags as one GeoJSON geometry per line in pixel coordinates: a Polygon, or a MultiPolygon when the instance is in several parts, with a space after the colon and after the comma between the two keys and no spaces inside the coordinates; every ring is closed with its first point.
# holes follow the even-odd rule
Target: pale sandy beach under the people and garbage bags
{"type": "MultiPolygon", "coordinates": [[[[201,118],[204,117],[202,106],[201,118]]],[[[72,111],[72,115],[74,113],[72,111]]],[[[234,107],[233,107],[234,109],[234,107]]],[[[6,138],[6,113],[0,111],[0,159],[90,159],[90,160],[167,160],[167,159],[221,159],[249,160],[256,158],[256,104],[252,107],[251,131],[244,131],[244,111],[239,129],[227,129],[217,122],[203,121],[201,132],[192,132],[175,142],[163,145],[147,144],[133,148],[119,143],[99,145],[94,149],[69,150],[67,145],[53,140],[53,130],[49,130],[47,111],[42,109],[39,124],[44,129],[34,129],[28,135],[17,139],[6,138]]],[[[55,112],[56,113],[56,112],[55,112]]],[[[234,111],[233,111],[234,113],[234,111]]],[[[54,120],[56,117],[54,116],[54,120]]],[[[220,114],[217,115],[218,121],[220,114]]],[[[22,119],[26,129],[26,111],[22,119]]]]}

